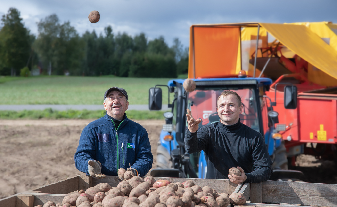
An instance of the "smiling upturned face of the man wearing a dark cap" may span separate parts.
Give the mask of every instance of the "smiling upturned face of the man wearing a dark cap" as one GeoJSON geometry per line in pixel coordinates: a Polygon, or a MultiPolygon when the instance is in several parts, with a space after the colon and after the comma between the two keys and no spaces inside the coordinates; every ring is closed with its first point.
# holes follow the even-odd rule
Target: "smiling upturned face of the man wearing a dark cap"
{"type": "Polygon", "coordinates": [[[103,105],[109,116],[116,120],[122,120],[125,111],[129,107],[129,102],[120,91],[114,90],[106,96],[106,101],[103,105]]]}

